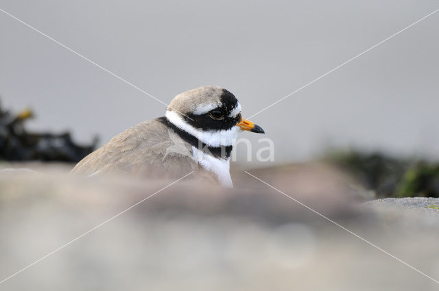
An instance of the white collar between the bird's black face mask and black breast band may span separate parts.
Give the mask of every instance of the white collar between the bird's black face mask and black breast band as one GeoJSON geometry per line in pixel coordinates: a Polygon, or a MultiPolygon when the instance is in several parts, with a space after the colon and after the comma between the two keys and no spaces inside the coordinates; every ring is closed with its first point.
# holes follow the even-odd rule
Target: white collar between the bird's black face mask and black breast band
{"type": "Polygon", "coordinates": [[[198,138],[198,140],[201,140],[204,144],[208,144],[209,147],[233,146],[238,137],[238,132],[241,130],[239,127],[234,126],[228,130],[202,131],[186,123],[183,118],[174,111],[167,110],[165,116],[170,123],[191,134],[191,136],[195,136],[195,138],[198,138]]]}

